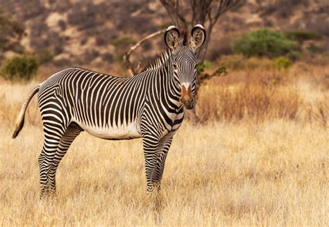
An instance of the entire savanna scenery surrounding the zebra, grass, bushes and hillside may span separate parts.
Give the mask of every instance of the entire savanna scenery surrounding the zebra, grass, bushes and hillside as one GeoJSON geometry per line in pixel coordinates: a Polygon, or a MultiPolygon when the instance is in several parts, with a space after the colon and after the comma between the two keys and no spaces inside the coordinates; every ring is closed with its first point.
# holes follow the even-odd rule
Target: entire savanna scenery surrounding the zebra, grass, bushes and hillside
{"type": "Polygon", "coordinates": [[[328,0],[0,0],[0,226],[328,226],[328,12],[328,0]],[[140,72],[165,49],[161,31],[197,23],[208,40],[196,108],[171,145],[160,211],[142,141],[87,133],[60,163],[56,197],[31,202],[36,97],[11,135],[33,87],[70,66],[130,76],[130,47],[158,34],[131,53],[140,72]]]}

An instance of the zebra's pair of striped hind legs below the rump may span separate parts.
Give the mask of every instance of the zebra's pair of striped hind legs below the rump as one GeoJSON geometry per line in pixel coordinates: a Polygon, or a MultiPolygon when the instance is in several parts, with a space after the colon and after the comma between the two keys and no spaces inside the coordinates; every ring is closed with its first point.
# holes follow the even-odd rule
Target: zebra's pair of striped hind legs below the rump
{"type": "Polygon", "coordinates": [[[44,146],[38,160],[41,186],[40,199],[45,195],[56,192],[57,167],[71,143],[81,132],[80,127],[71,124],[61,137],[51,135],[49,138],[46,130],[45,127],[44,146]]]}

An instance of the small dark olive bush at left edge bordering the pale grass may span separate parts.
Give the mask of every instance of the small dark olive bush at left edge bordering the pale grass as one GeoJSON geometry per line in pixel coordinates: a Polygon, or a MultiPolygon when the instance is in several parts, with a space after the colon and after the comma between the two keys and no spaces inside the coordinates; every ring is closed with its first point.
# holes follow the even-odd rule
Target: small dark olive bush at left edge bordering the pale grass
{"type": "Polygon", "coordinates": [[[33,56],[15,56],[3,62],[1,74],[9,81],[29,80],[37,74],[39,63],[33,56]]]}

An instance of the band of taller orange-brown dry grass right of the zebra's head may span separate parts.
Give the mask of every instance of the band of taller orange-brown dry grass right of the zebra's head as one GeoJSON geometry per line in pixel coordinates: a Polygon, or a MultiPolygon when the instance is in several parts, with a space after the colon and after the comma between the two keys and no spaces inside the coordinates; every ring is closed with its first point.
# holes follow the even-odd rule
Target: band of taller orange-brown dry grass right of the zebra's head
{"type": "MultiPolygon", "coordinates": [[[[262,67],[215,77],[201,87],[198,122],[290,119],[328,127],[329,67],[298,62],[289,70],[262,67]]],[[[328,62],[329,63],[329,62],[328,62]]]]}

